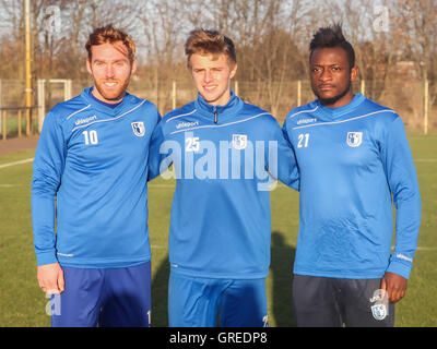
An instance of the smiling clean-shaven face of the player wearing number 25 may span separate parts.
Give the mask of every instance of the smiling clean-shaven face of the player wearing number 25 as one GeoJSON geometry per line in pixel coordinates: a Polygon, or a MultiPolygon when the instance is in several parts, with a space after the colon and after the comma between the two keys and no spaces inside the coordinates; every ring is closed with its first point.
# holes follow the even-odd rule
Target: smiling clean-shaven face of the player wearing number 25
{"type": "Polygon", "coordinates": [[[229,64],[224,53],[190,57],[191,75],[196,88],[210,105],[224,106],[231,98],[231,79],[235,76],[237,64],[229,64]]]}

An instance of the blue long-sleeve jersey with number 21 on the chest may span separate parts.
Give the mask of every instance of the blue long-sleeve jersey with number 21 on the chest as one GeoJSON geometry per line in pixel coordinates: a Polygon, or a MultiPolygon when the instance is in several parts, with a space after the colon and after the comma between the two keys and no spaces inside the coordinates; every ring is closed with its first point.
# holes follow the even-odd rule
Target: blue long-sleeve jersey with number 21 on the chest
{"type": "Polygon", "coordinates": [[[283,125],[300,173],[294,273],[409,277],[421,197],[401,118],[363,95],[340,108],[293,109],[283,125]],[[395,246],[392,204],[395,215],[395,246]]]}

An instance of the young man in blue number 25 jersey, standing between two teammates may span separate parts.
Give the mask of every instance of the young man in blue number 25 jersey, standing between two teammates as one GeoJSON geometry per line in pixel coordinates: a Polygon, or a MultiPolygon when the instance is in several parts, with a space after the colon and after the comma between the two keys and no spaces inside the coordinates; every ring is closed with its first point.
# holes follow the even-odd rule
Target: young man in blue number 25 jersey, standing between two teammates
{"type": "Polygon", "coordinates": [[[153,177],[174,164],[177,180],[169,325],[267,326],[269,183],[297,188],[294,156],[276,120],[231,89],[231,38],[196,29],[185,48],[198,98],[163,118],[150,166],[153,177]]]}

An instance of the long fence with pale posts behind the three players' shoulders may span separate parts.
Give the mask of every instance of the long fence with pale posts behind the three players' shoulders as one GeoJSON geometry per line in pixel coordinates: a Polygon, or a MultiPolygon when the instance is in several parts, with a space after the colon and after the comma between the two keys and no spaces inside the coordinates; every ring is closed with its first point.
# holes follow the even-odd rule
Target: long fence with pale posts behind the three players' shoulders
{"type": "MultiPolygon", "coordinates": [[[[25,100],[24,81],[0,80],[0,118],[1,137],[21,136],[26,128],[26,134],[40,131],[45,113],[56,104],[70,96],[79,95],[92,81],[39,80],[34,88],[34,107],[27,110],[31,116],[21,123],[25,100]],[[44,82],[44,83],[43,83],[44,82]],[[54,82],[54,83],[50,83],[54,82]],[[42,92],[40,86],[44,86],[42,92]],[[9,108],[9,109],[4,109],[9,108]],[[12,108],[12,109],[11,109],[12,108]],[[36,112],[36,110],[38,112],[36,112]],[[20,111],[21,110],[21,111],[20,111]],[[39,117],[38,117],[39,113],[39,117]],[[3,121],[5,120],[5,121],[3,121]],[[5,125],[4,125],[5,124],[5,125]]],[[[436,82],[410,81],[357,81],[353,84],[354,93],[363,93],[370,99],[394,109],[402,118],[408,130],[428,133],[437,131],[437,88],[436,82]]],[[[232,88],[245,101],[269,110],[281,123],[287,112],[315,99],[309,81],[288,82],[246,82],[233,81],[232,88]]],[[[141,98],[153,101],[160,112],[179,108],[193,100],[197,92],[190,80],[140,80],[132,79],[128,91],[141,98]]]]}

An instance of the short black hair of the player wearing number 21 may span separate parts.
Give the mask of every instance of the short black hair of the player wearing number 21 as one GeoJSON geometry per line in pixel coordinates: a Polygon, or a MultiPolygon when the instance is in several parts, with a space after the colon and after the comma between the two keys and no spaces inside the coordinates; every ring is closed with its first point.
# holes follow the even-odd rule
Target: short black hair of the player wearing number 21
{"type": "Polygon", "coordinates": [[[345,39],[340,23],[321,27],[317,31],[317,33],[312,36],[311,43],[309,43],[309,61],[311,61],[312,53],[316,49],[327,47],[341,47],[344,49],[347,55],[350,69],[355,67],[354,48],[352,47],[351,43],[345,39]]]}

